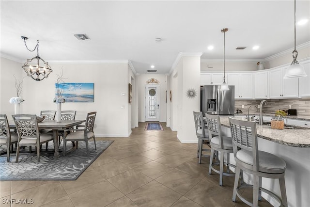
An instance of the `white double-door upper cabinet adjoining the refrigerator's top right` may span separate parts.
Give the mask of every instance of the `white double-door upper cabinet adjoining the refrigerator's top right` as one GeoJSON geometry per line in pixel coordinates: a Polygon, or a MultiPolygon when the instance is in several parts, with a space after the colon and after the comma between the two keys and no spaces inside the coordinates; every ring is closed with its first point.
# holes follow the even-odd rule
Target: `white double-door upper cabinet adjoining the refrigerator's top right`
{"type": "Polygon", "coordinates": [[[253,74],[252,73],[228,73],[227,84],[234,85],[235,99],[253,98],[253,74]]]}

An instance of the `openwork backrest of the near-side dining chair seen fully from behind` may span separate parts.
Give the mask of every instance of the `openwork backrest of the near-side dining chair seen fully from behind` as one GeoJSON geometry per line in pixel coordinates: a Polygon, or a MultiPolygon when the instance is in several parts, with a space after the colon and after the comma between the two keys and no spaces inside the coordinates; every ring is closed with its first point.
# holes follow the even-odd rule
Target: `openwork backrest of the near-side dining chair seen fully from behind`
{"type": "Polygon", "coordinates": [[[16,114],[12,115],[18,133],[18,142],[21,139],[36,139],[40,142],[40,133],[36,115],[16,114]]]}

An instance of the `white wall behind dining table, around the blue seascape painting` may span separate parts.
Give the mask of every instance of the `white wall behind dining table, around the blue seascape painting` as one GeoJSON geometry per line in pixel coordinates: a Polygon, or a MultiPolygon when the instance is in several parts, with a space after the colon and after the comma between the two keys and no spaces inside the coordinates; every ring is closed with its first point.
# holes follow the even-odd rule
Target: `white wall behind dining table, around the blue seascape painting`
{"type": "MultiPolygon", "coordinates": [[[[21,64],[1,58],[1,113],[8,116],[14,113],[14,105],[9,99],[16,96],[12,70],[20,76],[26,73],[21,64]],[[19,68],[20,67],[20,68],[19,68]],[[12,77],[12,80],[11,78],[12,77]],[[9,87],[10,86],[10,87],[9,87]],[[5,87],[5,88],[4,88],[5,87]],[[5,90],[4,90],[5,89],[5,90]],[[2,93],[2,90],[4,91],[2,93]]],[[[76,110],[76,119],[85,119],[87,112],[97,111],[94,132],[96,136],[127,137],[131,133],[131,105],[128,103],[128,63],[118,64],[50,64],[53,72],[42,81],[26,77],[23,83],[25,101],[21,104],[23,113],[39,114],[41,110],[56,110],[56,74],[63,67],[65,82],[93,82],[93,103],[64,103],[62,110],[76,110]],[[125,93],[125,96],[122,96],[125,93]]]]}

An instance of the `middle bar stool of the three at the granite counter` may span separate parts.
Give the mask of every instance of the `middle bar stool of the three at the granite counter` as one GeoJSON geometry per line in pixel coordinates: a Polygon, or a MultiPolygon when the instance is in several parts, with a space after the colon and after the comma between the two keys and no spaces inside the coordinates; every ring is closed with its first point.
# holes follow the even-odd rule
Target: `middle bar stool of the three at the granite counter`
{"type": "Polygon", "coordinates": [[[211,144],[211,156],[210,156],[210,166],[209,174],[211,175],[212,170],[219,174],[219,185],[223,185],[223,175],[234,176],[231,173],[229,167],[236,167],[229,163],[230,153],[233,153],[233,143],[231,137],[222,136],[221,123],[219,115],[205,114],[206,122],[208,125],[209,138],[211,144]],[[219,163],[213,162],[214,152],[220,152],[219,163]],[[224,162],[224,156],[226,154],[226,162],[224,162]],[[215,165],[219,165],[219,171],[214,168],[215,165]],[[224,165],[227,166],[227,171],[223,172],[224,165]]]}

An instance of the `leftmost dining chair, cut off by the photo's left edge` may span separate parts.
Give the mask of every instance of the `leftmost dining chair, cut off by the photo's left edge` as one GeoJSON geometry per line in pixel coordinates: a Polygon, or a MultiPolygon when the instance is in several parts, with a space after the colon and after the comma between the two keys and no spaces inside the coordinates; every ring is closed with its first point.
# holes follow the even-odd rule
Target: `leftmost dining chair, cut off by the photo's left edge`
{"type": "Polygon", "coordinates": [[[10,131],[6,114],[0,114],[0,147],[6,146],[7,161],[10,161],[10,152],[13,152],[13,144],[17,146],[18,135],[10,131]]]}

